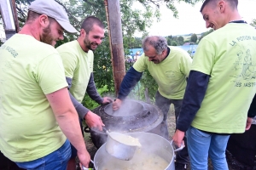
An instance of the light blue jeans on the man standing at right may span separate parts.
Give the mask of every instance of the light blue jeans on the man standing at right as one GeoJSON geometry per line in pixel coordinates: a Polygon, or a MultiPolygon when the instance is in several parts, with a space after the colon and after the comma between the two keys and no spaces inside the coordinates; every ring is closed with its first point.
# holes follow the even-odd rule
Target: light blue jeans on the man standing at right
{"type": "Polygon", "coordinates": [[[228,170],[225,150],[230,135],[204,133],[195,127],[189,127],[186,132],[191,169],[207,170],[208,155],[216,170],[228,170]]]}

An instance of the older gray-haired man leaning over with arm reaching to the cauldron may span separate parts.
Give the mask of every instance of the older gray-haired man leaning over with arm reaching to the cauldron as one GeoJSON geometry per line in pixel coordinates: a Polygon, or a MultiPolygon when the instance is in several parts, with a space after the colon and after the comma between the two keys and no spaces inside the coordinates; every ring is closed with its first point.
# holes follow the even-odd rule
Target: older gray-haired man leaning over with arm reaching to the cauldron
{"type": "MultiPolygon", "coordinates": [[[[113,110],[118,110],[122,101],[130,94],[141,79],[143,71],[148,69],[158,84],[155,94],[155,105],[164,114],[164,120],[160,124],[160,133],[169,139],[166,117],[173,104],[175,117],[179,114],[183,103],[183,94],[187,85],[192,59],[182,48],[168,47],[166,38],[159,36],[145,37],[143,39],[144,54],[137,59],[135,64],[127,71],[119,89],[118,99],[113,102],[113,110]]],[[[184,169],[189,163],[187,148],[177,152],[176,167],[184,169]]]]}

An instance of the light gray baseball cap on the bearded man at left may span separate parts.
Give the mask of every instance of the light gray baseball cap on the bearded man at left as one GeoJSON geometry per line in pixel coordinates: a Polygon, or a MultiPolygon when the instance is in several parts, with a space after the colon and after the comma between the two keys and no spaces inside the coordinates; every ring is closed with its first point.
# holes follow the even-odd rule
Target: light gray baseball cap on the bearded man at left
{"type": "Polygon", "coordinates": [[[50,18],[55,19],[67,32],[77,32],[77,30],[71,26],[65,9],[54,0],[35,0],[28,7],[28,10],[33,13],[28,13],[27,20],[34,20],[37,14],[46,14],[50,18]]]}

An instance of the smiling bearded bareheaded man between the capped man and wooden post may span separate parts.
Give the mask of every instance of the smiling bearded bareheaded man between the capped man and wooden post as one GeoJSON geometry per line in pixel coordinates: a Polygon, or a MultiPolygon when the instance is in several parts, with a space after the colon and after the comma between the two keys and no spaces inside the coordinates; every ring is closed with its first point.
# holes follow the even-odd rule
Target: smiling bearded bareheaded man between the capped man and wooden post
{"type": "MultiPolygon", "coordinates": [[[[93,77],[93,51],[102,43],[104,37],[104,25],[94,16],[87,17],[81,26],[80,36],[73,42],[67,42],[57,48],[61,54],[65,68],[70,98],[79,113],[80,119],[84,119],[88,127],[96,127],[102,131],[102,119],[81,104],[84,94],[98,104],[108,104],[112,99],[102,98],[96,91],[93,77]]],[[[80,126],[81,121],[80,121],[80,126]]],[[[81,129],[83,133],[83,128],[81,129]]],[[[76,150],[68,162],[68,170],[75,169],[76,150]]]]}

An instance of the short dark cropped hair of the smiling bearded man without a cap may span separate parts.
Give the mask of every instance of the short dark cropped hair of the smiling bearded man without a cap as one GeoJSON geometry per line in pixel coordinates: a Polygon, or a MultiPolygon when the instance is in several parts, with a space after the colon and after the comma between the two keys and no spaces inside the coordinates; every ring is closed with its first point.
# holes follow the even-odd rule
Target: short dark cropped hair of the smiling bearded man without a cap
{"type": "Polygon", "coordinates": [[[81,29],[84,29],[84,31],[88,34],[94,25],[100,26],[102,29],[104,29],[102,20],[96,18],[95,16],[86,17],[82,23],[81,29]]]}

